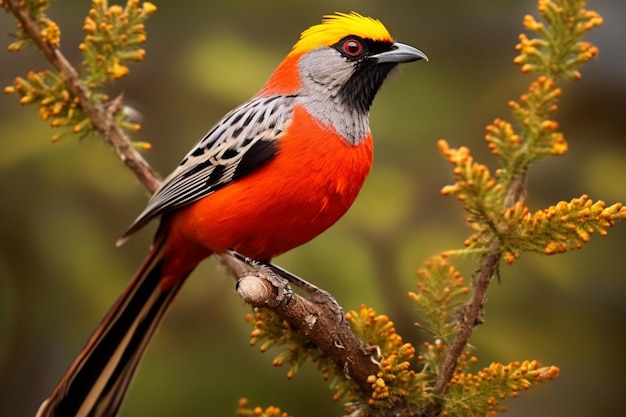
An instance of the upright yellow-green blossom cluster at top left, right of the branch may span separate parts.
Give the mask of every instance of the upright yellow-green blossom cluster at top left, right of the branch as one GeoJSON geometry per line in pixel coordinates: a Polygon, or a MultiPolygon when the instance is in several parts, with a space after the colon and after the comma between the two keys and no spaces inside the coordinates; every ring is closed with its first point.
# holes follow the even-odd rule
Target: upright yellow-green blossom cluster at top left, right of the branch
{"type": "Polygon", "coordinates": [[[85,18],[85,40],[78,48],[83,52],[92,83],[104,83],[109,78],[121,78],[129,73],[131,61],[141,61],[146,51],[143,22],[156,11],[152,3],[139,4],[128,0],[126,6],[108,6],[106,0],[93,0],[85,18]]]}

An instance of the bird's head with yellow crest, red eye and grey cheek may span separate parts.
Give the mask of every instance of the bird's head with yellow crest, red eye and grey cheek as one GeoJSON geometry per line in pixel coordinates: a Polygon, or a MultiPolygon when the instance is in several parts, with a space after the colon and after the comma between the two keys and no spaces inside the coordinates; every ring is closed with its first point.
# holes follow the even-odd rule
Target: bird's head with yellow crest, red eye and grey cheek
{"type": "Polygon", "coordinates": [[[367,114],[387,75],[399,63],[420,59],[428,58],[394,42],[379,20],[336,13],[302,32],[263,92],[298,93],[367,114]]]}

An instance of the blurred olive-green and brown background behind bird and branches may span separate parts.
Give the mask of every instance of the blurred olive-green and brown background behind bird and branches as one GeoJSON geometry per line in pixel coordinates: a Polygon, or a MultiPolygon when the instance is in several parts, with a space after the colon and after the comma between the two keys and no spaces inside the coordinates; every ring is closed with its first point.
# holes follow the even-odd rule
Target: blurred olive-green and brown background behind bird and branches
{"type": "MultiPolygon", "coordinates": [[[[50,10],[64,52],[76,45],[88,1],[50,10]]],[[[439,194],[451,181],[436,150],[446,138],[494,167],[484,126],[510,119],[507,101],[531,77],[512,64],[525,13],[536,2],[329,1],[156,2],[147,22],[148,55],[111,92],[144,116],[136,140],[166,174],[226,111],[253,95],[300,31],[336,10],[380,18],[396,39],[430,62],[404,66],[372,108],[373,172],[353,209],[330,231],[277,263],[333,293],[346,310],[361,303],[387,313],[406,340],[424,337],[406,292],[430,255],[462,245],[460,204],[439,194]]],[[[528,203],[540,209],[583,193],[626,202],[626,3],[591,1],[605,24],[591,34],[600,59],[580,82],[563,85],[558,115],[570,152],[536,165],[528,203]]],[[[0,13],[2,44],[14,23],[0,13]]],[[[0,85],[46,64],[26,49],[0,47],[0,85]]],[[[114,242],[147,194],[96,138],[53,135],[36,108],[0,95],[0,416],[33,415],[147,252],[154,225],[122,248],[114,242]]],[[[502,266],[486,324],[472,344],[481,364],[538,359],[561,368],[552,383],[508,400],[508,416],[619,415],[626,329],[626,224],[594,236],[583,250],[524,254],[502,266]]],[[[475,260],[462,262],[469,278],[475,260]]],[[[249,311],[214,261],[186,284],[140,367],[124,416],[234,415],[237,400],[274,404],[294,416],[341,415],[313,366],[293,381],[248,346],[249,311]]]]}

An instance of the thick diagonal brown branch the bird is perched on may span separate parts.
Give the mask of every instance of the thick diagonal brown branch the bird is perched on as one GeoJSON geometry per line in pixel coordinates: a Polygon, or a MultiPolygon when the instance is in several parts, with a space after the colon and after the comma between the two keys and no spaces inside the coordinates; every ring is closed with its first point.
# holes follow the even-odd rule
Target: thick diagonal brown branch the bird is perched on
{"type": "MultiPolygon", "coordinates": [[[[122,97],[116,98],[108,108],[103,103],[92,100],[89,89],[76,69],[58,48],[51,46],[41,37],[38,22],[29,16],[28,11],[20,5],[20,1],[4,0],[3,4],[6,4],[15,15],[46,59],[65,77],[69,91],[78,98],[80,106],[103,140],[113,146],[119,158],[153,193],[160,183],[158,175],[135,150],[128,136],[115,124],[115,112],[122,107],[122,97]]],[[[351,332],[345,320],[337,320],[335,311],[325,309],[324,304],[312,302],[293,293],[282,278],[277,279],[277,275],[272,271],[261,268],[250,272],[245,264],[230,256],[222,256],[222,259],[235,276],[245,281],[245,288],[253,285],[257,291],[261,291],[260,298],[244,293],[244,301],[253,307],[268,308],[287,320],[298,333],[309,338],[342,367],[346,375],[354,379],[366,393],[372,391],[371,385],[367,383],[367,377],[378,372],[378,365],[372,362],[372,348],[351,332]]],[[[241,284],[239,288],[242,289],[241,284]]]]}

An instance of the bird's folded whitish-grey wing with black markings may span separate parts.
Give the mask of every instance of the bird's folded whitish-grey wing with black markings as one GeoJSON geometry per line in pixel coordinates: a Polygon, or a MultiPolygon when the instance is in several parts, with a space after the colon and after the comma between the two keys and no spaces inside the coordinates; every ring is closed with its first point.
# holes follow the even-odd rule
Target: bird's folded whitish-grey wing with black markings
{"type": "Polygon", "coordinates": [[[295,96],[255,97],[228,113],[161,183],[118,244],[153,218],[205,197],[271,160],[295,96]]]}

